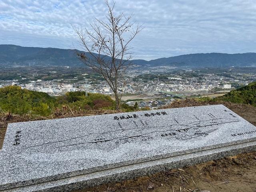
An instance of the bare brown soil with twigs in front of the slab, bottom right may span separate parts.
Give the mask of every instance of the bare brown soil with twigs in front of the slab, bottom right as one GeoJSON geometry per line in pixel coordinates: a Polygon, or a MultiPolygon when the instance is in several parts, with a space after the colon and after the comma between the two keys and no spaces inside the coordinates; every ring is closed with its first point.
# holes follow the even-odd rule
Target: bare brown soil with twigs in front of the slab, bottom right
{"type": "Polygon", "coordinates": [[[200,192],[203,190],[255,192],[256,152],[74,192],[200,192]]]}

